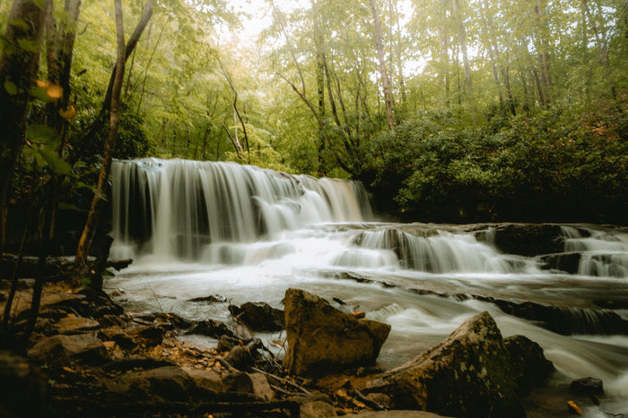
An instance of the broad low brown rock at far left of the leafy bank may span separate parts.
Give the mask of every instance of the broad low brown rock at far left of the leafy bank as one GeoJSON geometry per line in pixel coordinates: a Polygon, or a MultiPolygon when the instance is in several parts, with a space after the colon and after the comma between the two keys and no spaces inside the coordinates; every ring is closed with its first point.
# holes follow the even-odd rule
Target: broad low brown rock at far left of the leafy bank
{"type": "Polygon", "coordinates": [[[29,357],[40,363],[63,365],[70,360],[80,360],[90,364],[109,362],[107,348],[96,337],[54,336],[45,338],[29,350],[29,357]]]}

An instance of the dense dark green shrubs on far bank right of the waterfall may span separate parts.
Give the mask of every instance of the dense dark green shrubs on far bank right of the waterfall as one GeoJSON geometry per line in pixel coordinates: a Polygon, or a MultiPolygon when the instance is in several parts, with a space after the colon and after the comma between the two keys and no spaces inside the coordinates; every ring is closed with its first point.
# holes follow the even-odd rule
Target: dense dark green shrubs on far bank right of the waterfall
{"type": "Polygon", "coordinates": [[[373,141],[363,176],[408,218],[624,223],[627,106],[554,106],[498,130],[428,113],[373,141]]]}

